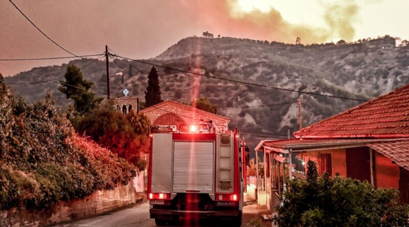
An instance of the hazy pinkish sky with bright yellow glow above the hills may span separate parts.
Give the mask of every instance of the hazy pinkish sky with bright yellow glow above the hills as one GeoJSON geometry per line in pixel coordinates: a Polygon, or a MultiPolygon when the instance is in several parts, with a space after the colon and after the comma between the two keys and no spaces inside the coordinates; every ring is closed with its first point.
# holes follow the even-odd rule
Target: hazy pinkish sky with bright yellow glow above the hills
{"type": "MultiPolygon", "coordinates": [[[[13,2],[77,55],[152,58],[182,38],[215,36],[321,43],[389,34],[409,39],[407,0],[37,0],[13,2]]],[[[0,59],[70,56],[0,0],[0,59]]],[[[0,61],[3,75],[69,60],[0,61]]]]}

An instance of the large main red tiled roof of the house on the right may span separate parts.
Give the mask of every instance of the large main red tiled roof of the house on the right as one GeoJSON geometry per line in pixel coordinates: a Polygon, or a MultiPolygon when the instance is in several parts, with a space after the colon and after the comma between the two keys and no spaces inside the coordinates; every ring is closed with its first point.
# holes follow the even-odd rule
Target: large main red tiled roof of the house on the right
{"type": "Polygon", "coordinates": [[[312,124],[302,129],[302,137],[409,137],[409,85],[312,124]]]}

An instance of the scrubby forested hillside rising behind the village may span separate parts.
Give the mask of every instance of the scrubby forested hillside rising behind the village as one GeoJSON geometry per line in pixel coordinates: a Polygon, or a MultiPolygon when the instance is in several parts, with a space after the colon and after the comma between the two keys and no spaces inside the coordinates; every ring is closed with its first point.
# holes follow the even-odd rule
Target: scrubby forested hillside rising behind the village
{"type": "MultiPolygon", "coordinates": [[[[248,83],[357,99],[371,99],[409,81],[409,47],[395,47],[395,39],[389,36],[308,46],[229,37],[189,37],[144,61],[248,83]]],[[[83,67],[85,79],[95,82],[91,90],[106,93],[104,61],[82,59],[69,64],[83,67]]],[[[111,60],[110,73],[124,72],[123,83],[121,78],[112,78],[111,97],[122,96],[122,90],[127,88],[129,95],[144,98],[151,67],[120,58],[111,60]]],[[[58,96],[57,105],[67,107],[69,100],[57,90],[58,82],[41,82],[47,81],[42,77],[62,77],[65,69],[65,64],[33,68],[6,78],[6,82],[16,94],[30,101],[43,97],[51,89],[58,96]]],[[[157,70],[162,99],[188,103],[196,96],[208,97],[219,106],[219,114],[231,119],[232,127],[237,125],[243,132],[252,134],[285,136],[287,130],[292,134],[299,127],[297,104],[233,107],[288,103],[301,96],[305,126],[361,103],[243,85],[170,69],[157,70]]],[[[252,136],[251,144],[260,139],[252,136]]]]}

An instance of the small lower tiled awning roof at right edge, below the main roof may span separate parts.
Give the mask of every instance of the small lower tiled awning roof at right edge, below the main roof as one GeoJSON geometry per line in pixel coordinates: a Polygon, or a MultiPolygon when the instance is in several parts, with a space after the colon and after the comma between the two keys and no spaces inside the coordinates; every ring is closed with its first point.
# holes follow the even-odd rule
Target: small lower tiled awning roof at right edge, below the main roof
{"type": "Polygon", "coordinates": [[[409,140],[376,142],[366,145],[409,170],[409,140]]]}

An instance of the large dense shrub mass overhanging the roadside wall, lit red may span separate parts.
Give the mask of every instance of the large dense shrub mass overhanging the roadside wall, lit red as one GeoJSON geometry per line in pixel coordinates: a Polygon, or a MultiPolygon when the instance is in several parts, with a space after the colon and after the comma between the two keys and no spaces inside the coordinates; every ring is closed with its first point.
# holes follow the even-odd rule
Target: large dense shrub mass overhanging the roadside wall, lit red
{"type": "Polygon", "coordinates": [[[15,100],[0,74],[0,209],[42,208],[127,184],[134,167],[74,133],[49,93],[15,100]]]}

